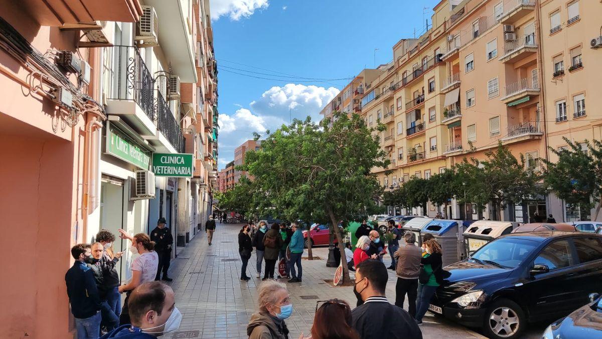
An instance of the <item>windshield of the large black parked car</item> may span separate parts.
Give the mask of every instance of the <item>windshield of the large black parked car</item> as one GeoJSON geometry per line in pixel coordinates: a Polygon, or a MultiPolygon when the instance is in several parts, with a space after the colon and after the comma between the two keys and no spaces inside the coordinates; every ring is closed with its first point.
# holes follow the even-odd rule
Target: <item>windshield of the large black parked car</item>
{"type": "Polygon", "coordinates": [[[526,239],[501,238],[485,244],[471,259],[498,267],[516,268],[537,245],[537,242],[526,239]]]}

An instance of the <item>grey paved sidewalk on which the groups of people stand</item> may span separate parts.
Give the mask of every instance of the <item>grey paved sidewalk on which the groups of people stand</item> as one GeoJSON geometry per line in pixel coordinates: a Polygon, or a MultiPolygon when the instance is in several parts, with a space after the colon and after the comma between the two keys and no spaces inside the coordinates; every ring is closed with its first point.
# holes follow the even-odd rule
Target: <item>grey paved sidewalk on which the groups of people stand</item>
{"type": "MultiPolygon", "coordinates": [[[[246,326],[250,315],[256,311],[256,289],[261,279],[255,277],[254,252],[247,268],[247,275],[252,279],[248,282],[239,279],[242,264],[238,255],[240,228],[240,224],[218,224],[212,246],[208,246],[206,233],[201,231],[172,262],[170,276],[174,280],[171,285],[183,319],[179,330],[165,338],[247,338],[246,326]]],[[[293,315],[286,323],[293,339],[299,338],[301,332],[309,335],[317,300],[339,298],[355,307],[353,287],[332,287],[324,282],[324,279],[332,280],[335,272],[335,268],[326,267],[327,247],[318,247],[313,253],[321,260],[303,260],[303,282],[287,283],[293,315]]],[[[304,254],[306,256],[307,252],[304,254]]],[[[385,264],[389,262],[390,259],[385,257],[385,264]]],[[[284,279],[281,281],[285,282],[284,279]]],[[[396,277],[389,271],[386,295],[392,303],[395,301],[395,283],[396,277]]],[[[430,313],[423,322],[424,338],[483,338],[430,313]]]]}

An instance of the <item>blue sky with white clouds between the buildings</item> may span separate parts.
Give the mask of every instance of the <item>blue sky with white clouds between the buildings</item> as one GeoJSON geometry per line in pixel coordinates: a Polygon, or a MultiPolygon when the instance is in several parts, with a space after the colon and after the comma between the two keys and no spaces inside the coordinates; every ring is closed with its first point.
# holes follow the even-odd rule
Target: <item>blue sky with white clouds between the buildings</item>
{"type": "Polygon", "coordinates": [[[352,78],[374,67],[375,48],[376,65],[389,62],[393,45],[424,31],[423,17],[430,23],[439,2],[210,1],[220,69],[220,169],[253,131],[273,131],[291,116],[319,119],[321,107],[349,82],[303,78],[352,78]]]}

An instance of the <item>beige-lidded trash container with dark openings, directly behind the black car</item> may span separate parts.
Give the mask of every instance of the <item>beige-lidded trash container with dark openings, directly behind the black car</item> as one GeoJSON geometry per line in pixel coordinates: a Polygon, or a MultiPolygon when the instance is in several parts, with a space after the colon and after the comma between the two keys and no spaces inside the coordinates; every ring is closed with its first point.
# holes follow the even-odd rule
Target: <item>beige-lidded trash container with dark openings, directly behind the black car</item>
{"type": "Polygon", "coordinates": [[[509,234],[517,227],[518,223],[512,221],[475,221],[463,234],[467,256],[471,256],[476,250],[498,236],[509,234]]]}

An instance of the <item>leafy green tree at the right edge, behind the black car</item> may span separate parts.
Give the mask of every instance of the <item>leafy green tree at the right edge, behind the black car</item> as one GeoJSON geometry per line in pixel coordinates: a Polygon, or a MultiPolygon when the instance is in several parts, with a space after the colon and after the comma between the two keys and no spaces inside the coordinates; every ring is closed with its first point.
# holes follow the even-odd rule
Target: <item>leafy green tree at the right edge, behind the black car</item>
{"type": "Polygon", "coordinates": [[[595,206],[592,220],[600,214],[602,195],[602,142],[585,141],[581,145],[564,138],[568,148],[550,151],[558,157],[557,162],[544,160],[544,182],[557,197],[571,208],[591,209],[595,206]]]}

